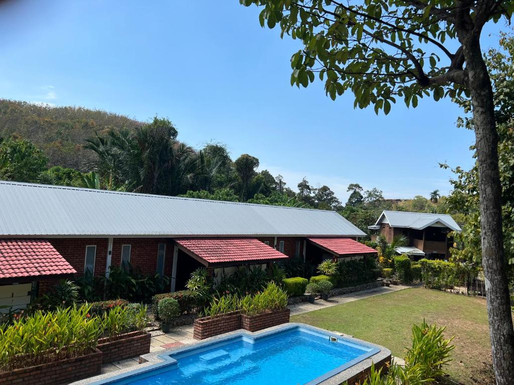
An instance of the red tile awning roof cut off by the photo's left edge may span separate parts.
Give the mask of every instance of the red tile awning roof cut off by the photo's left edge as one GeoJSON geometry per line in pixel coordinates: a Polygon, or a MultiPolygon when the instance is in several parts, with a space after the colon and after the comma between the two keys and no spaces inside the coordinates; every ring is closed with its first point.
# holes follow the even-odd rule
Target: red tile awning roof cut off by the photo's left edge
{"type": "Polygon", "coordinates": [[[44,239],[0,239],[0,279],[77,273],[44,239]]]}

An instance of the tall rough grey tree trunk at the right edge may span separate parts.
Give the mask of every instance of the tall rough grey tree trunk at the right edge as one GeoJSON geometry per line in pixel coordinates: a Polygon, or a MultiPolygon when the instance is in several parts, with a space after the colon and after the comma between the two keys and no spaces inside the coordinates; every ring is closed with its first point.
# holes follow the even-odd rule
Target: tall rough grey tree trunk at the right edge
{"type": "Polygon", "coordinates": [[[493,92],[480,48],[480,33],[471,28],[466,32],[461,30],[458,35],[466,59],[478,155],[482,266],[492,361],[497,384],[511,385],[514,381],[514,330],[503,250],[502,190],[493,92]]]}

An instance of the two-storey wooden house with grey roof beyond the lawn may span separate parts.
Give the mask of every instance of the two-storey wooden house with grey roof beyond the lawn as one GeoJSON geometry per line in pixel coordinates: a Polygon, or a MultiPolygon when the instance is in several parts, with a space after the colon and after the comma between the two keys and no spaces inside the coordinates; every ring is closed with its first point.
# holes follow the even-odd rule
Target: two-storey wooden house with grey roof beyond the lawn
{"type": "Polygon", "coordinates": [[[453,245],[450,232],[461,232],[461,227],[447,214],[410,213],[407,211],[383,210],[372,226],[371,240],[382,235],[391,243],[396,236],[408,239],[406,246],[397,247],[399,254],[413,257],[443,258],[450,257],[449,248],[453,245]]]}

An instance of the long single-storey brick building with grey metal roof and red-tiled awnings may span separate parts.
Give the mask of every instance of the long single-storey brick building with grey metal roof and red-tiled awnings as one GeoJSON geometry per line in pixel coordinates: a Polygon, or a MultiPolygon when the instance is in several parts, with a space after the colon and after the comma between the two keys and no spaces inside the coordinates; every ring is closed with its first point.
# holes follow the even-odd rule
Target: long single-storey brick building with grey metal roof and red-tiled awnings
{"type": "Polygon", "coordinates": [[[0,207],[0,305],[23,306],[27,288],[38,295],[63,277],[108,276],[123,262],[171,277],[175,291],[199,266],[219,277],[289,257],[376,253],[335,211],[5,181],[0,207]]]}

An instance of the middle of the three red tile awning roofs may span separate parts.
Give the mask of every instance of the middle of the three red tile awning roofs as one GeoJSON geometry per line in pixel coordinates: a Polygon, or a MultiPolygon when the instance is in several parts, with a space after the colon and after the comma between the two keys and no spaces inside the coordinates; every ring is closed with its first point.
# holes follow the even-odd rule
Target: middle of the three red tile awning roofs
{"type": "Polygon", "coordinates": [[[179,238],[175,241],[209,264],[288,258],[255,238],[179,238]]]}

